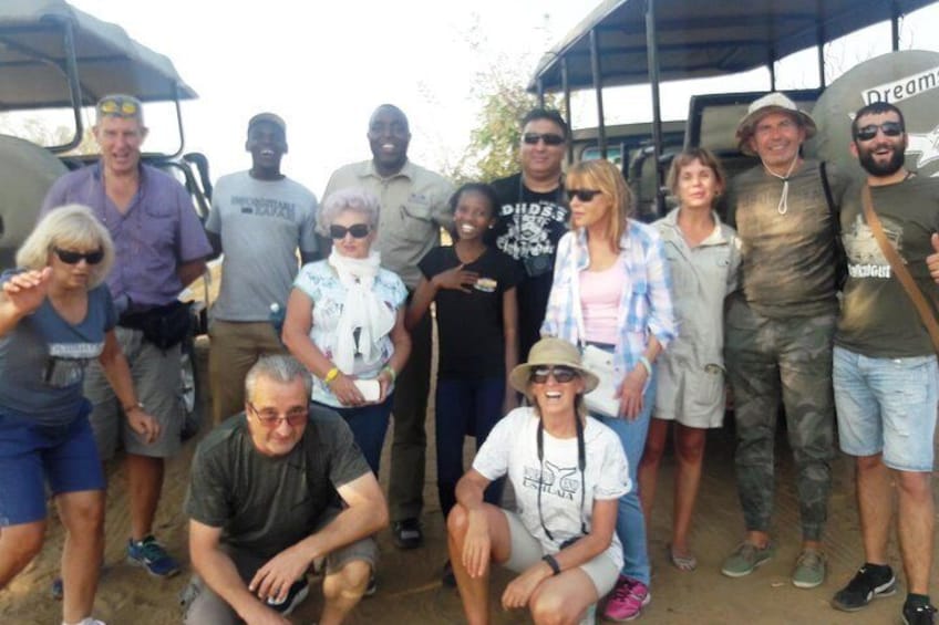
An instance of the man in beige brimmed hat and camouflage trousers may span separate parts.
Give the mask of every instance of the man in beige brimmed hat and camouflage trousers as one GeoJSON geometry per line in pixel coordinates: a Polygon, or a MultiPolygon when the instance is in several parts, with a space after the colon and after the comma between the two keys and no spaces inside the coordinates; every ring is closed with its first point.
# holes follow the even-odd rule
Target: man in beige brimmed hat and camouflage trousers
{"type": "Polygon", "coordinates": [[[846,179],[803,158],[815,122],[781,93],[750,105],[736,129],[760,165],[730,186],[728,222],[742,242],[742,288],[726,312],[728,377],[736,418],[736,477],[746,538],[722,573],[741,577],[773,556],[773,444],[782,402],[795,463],[802,551],[795,586],[825,580],[822,533],[834,452],[832,337],[837,319],[837,206],[846,179]]]}

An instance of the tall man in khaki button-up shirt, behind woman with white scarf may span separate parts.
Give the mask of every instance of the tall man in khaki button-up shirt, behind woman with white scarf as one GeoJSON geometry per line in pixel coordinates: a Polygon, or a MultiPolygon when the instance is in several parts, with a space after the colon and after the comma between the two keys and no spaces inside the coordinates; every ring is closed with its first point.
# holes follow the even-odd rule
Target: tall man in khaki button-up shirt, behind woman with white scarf
{"type": "MultiPolygon", "coordinates": [[[[407,117],[394,105],[382,104],[369,119],[372,159],[336,170],[323,199],[339,189],[358,187],[379,198],[376,249],[382,267],[398,273],[409,299],[421,279],[417,262],[440,244],[441,228],[450,228],[453,186],[438,174],[407,159],[411,131],[407,117]]],[[[394,440],[391,448],[389,500],[394,542],[414,549],[423,542],[419,518],[424,504],[424,463],[427,444],[424,419],[431,378],[431,319],[425,315],[412,331],[407,365],[394,392],[394,440]]]]}

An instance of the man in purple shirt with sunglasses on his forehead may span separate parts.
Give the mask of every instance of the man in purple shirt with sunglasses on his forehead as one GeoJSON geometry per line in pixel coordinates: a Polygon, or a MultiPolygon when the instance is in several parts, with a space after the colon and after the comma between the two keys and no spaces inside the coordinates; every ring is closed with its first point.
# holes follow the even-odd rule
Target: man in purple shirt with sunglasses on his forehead
{"type": "Polygon", "coordinates": [[[186,189],[141,163],[147,128],[140,101],[107,95],[97,103],[96,113],[93,132],[100,162],[56,180],[42,215],[65,204],[87,205],[114,239],[116,259],[107,285],[120,315],[117,340],[141,403],[159,421],[159,438],[147,446],[124,427],[120,414],[133,406],[121,406],[99,366],[89,367],[84,394],[94,405],[90,420],[102,460],[114,455],[118,440],[127,452],[132,532],[127,560],[165,577],[177,573],[179,565],[152,530],[165,458],[180,447],[180,343],[157,346],[152,332],[145,337],[143,327],[148,321],[166,319],[179,292],[205,271],[211,247],[186,189]]]}

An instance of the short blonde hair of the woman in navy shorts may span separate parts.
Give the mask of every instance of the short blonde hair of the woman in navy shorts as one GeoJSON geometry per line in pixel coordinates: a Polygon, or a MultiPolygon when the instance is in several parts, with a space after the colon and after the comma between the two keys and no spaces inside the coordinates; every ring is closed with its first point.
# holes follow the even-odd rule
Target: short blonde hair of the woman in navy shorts
{"type": "Polygon", "coordinates": [[[101,248],[104,259],[89,267],[89,288],[97,287],[114,264],[114,243],[91,208],[70,204],[53,208],[37,223],[17,251],[17,265],[43,269],[49,265],[53,248],[101,248]]]}

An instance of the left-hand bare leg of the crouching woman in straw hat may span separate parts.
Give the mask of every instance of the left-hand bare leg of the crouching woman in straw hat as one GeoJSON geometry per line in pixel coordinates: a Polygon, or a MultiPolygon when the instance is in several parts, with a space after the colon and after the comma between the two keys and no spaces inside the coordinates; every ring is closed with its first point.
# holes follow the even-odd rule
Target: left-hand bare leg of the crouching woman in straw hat
{"type": "Polygon", "coordinates": [[[486,520],[489,528],[489,565],[483,575],[471,577],[463,564],[463,543],[466,540],[467,513],[460,503],[453,507],[446,519],[447,549],[456,587],[463,601],[463,612],[470,625],[487,625],[489,623],[489,574],[493,564],[505,562],[510,553],[510,537],[505,513],[495,506],[484,503],[486,520]]]}

